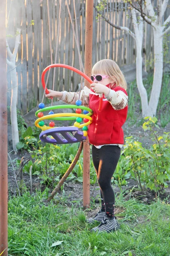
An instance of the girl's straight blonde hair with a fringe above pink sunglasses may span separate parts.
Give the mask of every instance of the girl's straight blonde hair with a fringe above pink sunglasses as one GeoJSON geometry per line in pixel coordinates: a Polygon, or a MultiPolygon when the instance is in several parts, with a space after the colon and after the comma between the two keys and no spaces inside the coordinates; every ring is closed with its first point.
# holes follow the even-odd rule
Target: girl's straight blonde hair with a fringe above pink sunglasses
{"type": "MultiPolygon", "coordinates": [[[[107,75],[116,83],[116,86],[121,86],[125,90],[127,89],[127,83],[125,76],[120,70],[119,66],[115,61],[109,59],[103,59],[98,61],[92,68],[92,74],[101,74],[107,75]]],[[[110,88],[112,89],[114,82],[111,84],[110,88]]]]}

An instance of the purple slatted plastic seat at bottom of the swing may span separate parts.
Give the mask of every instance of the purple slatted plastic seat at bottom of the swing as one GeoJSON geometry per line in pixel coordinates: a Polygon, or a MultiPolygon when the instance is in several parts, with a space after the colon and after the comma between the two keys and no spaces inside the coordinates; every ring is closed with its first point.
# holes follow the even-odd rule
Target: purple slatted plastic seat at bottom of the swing
{"type": "Polygon", "coordinates": [[[83,136],[83,132],[79,131],[77,127],[56,127],[42,131],[40,133],[40,140],[46,143],[68,144],[86,140],[86,137],[83,136]],[[48,136],[52,136],[54,139],[48,136]]]}

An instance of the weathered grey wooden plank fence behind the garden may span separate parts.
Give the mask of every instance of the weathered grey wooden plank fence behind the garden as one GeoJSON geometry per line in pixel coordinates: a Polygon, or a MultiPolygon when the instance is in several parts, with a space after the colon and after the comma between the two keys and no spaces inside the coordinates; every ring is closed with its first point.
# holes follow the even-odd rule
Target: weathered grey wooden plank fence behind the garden
{"type": "MultiPolygon", "coordinates": [[[[45,67],[51,64],[47,0],[6,0],[7,1],[7,36],[9,47],[14,48],[17,28],[21,28],[21,40],[17,54],[17,108],[27,113],[38,102],[42,101],[43,89],[41,74],[45,67]],[[34,20],[34,25],[31,25],[34,20]]],[[[71,15],[74,19],[73,1],[68,0],[71,15]]],[[[97,0],[94,0],[97,4],[97,0]]],[[[132,29],[130,10],[122,0],[108,0],[105,14],[109,15],[112,23],[128,26],[132,29]],[[111,11],[114,10],[114,11],[111,11]],[[129,16],[128,16],[129,15],[129,16]]],[[[50,24],[52,35],[53,61],[57,43],[57,29],[59,23],[59,0],[49,0],[50,24]]],[[[76,1],[79,44],[84,63],[85,53],[85,1],[76,1]]],[[[167,11],[169,12],[169,11],[167,11]]],[[[166,16],[168,15],[165,14],[166,16]]],[[[135,63],[135,42],[133,38],[122,30],[113,28],[104,20],[96,21],[94,11],[93,23],[93,64],[103,58],[111,58],[120,67],[135,63]]],[[[75,20],[74,20],[75,21],[75,20]]],[[[75,24],[74,24],[75,26],[75,24]]],[[[153,36],[151,27],[146,25],[144,48],[148,61],[153,58],[153,36]]],[[[59,48],[57,63],[64,63],[79,69],[79,58],[73,29],[68,15],[65,0],[62,0],[60,19],[59,48]]],[[[167,58],[169,58],[170,53],[167,58]]],[[[11,99],[11,76],[7,73],[8,105],[11,99]]],[[[53,71],[48,80],[48,88],[52,88],[53,71]]],[[[80,82],[78,74],[70,70],[56,69],[55,90],[76,90],[80,82]]]]}

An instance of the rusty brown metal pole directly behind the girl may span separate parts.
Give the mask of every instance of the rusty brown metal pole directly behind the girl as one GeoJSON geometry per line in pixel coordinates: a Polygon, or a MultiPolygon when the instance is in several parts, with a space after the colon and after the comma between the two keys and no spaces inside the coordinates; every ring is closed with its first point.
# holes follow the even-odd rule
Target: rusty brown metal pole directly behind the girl
{"type": "MultiPolygon", "coordinates": [[[[92,42],[93,42],[93,0],[86,0],[85,19],[85,74],[91,76],[92,42]]],[[[90,84],[85,80],[85,86],[90,84]]],[[[88,140],[83,144],[83,207],[90,207],[90,144],[88,140]]]]}

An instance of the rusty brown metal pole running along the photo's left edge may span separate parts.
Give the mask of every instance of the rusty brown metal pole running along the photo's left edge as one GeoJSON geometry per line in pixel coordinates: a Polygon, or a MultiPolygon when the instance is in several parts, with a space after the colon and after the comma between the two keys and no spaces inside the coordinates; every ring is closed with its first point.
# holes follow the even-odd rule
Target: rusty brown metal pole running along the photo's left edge
{"type": "Polygon", "coordinates": [[[8,255],[6,0],[0,4],[0,255],[8,255]]]}

